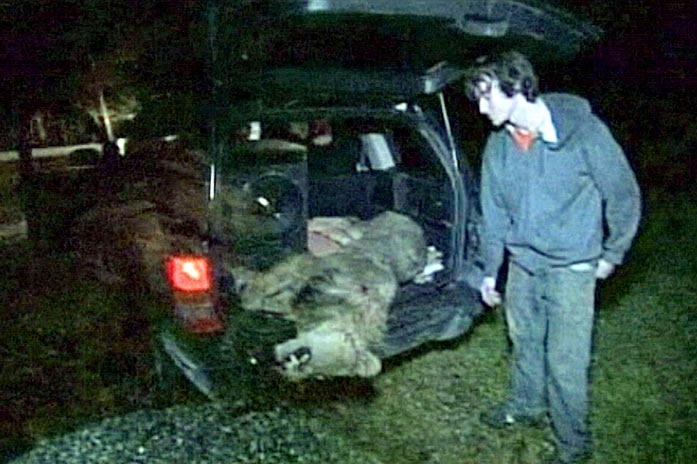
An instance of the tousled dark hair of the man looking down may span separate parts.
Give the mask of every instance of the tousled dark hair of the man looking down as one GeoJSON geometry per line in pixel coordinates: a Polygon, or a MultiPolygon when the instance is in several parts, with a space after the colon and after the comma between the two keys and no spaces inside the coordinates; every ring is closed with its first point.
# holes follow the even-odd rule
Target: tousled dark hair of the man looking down
{"type": "Polygon", "coordinates": [[[480,83],[496,80],[501,90],[509,97],[522,94],[526,100],[534,101],[539,95],[539,83],[530,61],[519,52],[508,51],[494,57],[483,57],[470,68],[465,79],[467,98],[479,101],[482,96],[480,83]]]}

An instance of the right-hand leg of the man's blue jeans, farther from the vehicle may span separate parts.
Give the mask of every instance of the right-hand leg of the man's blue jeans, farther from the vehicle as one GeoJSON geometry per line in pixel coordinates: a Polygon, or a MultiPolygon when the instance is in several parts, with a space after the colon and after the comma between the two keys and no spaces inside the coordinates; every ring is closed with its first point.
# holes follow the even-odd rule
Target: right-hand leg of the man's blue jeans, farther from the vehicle
{"type": "Polygon", "coordinates": [[[561,451],[583,452],[590,446],[588,396],[595,273],[590,265],[584,270],[553,269],[546,281],[550,417],[561,451]]]}

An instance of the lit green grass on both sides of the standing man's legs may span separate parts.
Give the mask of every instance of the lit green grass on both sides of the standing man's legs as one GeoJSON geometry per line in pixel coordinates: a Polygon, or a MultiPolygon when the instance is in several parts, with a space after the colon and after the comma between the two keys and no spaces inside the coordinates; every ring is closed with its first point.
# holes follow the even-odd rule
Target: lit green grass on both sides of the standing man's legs
{"type": "MultiPolygon", "coordinates": [[[[697,462],[697,202],[651,194],[646,218],[629,261],[600,288],[596,464],[697,462]]],[[[537,462],[549,430],[478,420],[506,393],[507,348],[502,317],[490,314],[466,340],[388,366],[373,401],[343,405],[327,424],[382,462],[537,462]]]]}

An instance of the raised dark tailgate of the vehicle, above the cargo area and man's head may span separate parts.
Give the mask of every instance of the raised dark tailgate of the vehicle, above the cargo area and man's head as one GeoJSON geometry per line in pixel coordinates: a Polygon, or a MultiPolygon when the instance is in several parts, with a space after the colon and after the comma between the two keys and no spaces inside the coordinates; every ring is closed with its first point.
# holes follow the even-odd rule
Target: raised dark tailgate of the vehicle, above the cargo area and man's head
{"type": "MultiPolygon", "coordinates": [[[[252,10],[259,1],[246,3],[252,10]]],[[[263,94],[286,103],[313,98],[334,103],[409,101],[452,83],[483,55],[516,49],[535,62],[569,60],[600,34],[590,23],[534,0],[265,4],[265,14],[249,24],[240,22],[239,8],[232,6],[231,14],[218,16],[215,80],[223,83],[222,89],[234,89],[233,98],[263,94]],[[223,45],[243,43],[245,29],[251,34],[246,47],[258,50],[240,61],[226,54],[234,47],[223,45]],[[434,68],[442,62],[449,65],[434,68]],[[429,76],[429,69],[438,70],[437,75],[429,76]]]]}

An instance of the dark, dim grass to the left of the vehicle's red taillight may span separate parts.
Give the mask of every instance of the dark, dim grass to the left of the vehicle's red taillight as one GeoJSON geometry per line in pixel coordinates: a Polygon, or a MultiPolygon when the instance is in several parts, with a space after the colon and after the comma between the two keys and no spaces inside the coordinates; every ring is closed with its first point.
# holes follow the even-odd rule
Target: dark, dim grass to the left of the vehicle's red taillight
{"type": "Polygon", "coordinates": [[[0,456],[145,406],[148,337],[124,295],[85,278],[69,257],[24,244],[3,251],[0,456]]]}

